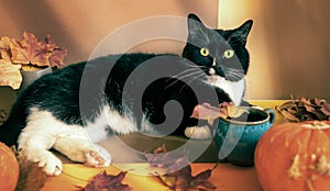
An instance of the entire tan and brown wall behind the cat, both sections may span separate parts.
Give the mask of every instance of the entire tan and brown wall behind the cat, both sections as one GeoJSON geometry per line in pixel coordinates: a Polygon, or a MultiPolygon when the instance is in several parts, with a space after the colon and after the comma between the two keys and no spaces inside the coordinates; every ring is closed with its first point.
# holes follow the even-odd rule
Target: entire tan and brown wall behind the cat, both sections
{"type": "MultiPolygon", "coordinates": [[[[51,34],[69,49],[65,59],[69,64],[87,59],[106,35],[138,19],[196,12],[207,25],[223,29],[253,19],[248,98],[287,99],[294,93],[330,99],[330,1],[219,1],[218,23],[218,0],[0,0],[0,36],[19,37],[23,31],[38,38],[51,34]]],[[[180,49],[170,42],[156,42],[135,50],[180,49]]],[[[0,99],[13,100],[15,94],[3,89],[0,99]]]]}

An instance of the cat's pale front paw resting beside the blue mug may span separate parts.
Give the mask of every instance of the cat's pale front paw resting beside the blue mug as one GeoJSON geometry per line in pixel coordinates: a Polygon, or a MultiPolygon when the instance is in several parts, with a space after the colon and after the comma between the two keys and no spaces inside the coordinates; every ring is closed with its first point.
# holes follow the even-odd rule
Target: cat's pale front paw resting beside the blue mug
{"type": "Polygon", "coordinates": [[[194,139],[210,139],[212,138],[212,133],[210,131],[210,127],[205,126],[190,126],[185,130],[185,135],[188,138],[194,139]]]}

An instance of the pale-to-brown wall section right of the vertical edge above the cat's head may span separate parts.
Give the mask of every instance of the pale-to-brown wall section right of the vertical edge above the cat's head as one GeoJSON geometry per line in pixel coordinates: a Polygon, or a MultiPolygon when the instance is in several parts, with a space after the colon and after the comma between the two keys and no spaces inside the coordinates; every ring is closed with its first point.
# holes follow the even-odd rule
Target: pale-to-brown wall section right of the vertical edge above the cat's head
{"type": "Polygon", "coordinates": [[[330,1],[220,0],[220,27],[254,20],[249,98],[330,101],[330,1]]]}

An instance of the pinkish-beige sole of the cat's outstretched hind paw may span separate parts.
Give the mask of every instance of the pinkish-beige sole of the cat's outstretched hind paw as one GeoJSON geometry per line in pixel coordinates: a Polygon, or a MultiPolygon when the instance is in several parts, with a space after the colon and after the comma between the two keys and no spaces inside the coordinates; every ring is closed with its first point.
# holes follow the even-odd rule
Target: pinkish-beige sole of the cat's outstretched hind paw
{"type": "Polygon", "coordinates": [[[85,165],[91,167],[108,167],[111,162],[110,155],[106,155],[96,150],[87,150],[85,154],[85,165]]]}

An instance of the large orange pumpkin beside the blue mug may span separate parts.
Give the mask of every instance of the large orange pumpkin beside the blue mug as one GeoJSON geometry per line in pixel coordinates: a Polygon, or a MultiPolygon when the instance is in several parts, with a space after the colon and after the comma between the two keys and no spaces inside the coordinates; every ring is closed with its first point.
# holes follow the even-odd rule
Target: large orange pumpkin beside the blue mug
{"type": "Polygon", "coordinates": [[[275,125],[258,141],[254,157],[265,191],[329,191],[330,121],[275,125]]]}

